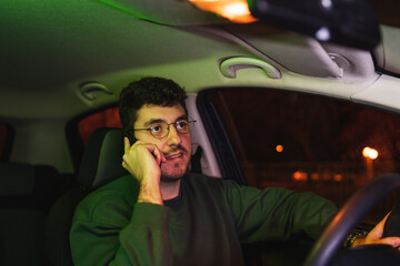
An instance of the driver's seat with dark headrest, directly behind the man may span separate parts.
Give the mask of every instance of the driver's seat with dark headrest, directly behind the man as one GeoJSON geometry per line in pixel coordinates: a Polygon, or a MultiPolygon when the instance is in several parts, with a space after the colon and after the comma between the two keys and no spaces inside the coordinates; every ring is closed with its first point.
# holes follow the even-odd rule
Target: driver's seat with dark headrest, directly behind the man
{"type": "Polygon", "coordinates": [[[76,206],[97,187],[128,174],[121,166],[122,155],[122,130],[103,127],[90,136],[77,176],[79,187],[62,195],[49,213],[44,232],[46,265],[73,265],[69,233],[76,206]]]}

